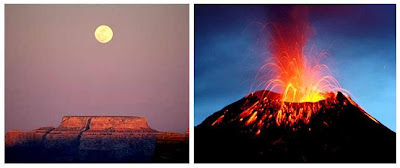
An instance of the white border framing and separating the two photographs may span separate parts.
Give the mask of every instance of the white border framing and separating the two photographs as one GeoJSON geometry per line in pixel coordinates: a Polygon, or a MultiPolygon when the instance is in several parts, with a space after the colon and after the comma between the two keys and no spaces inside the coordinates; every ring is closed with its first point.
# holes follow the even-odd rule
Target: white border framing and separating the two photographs
{"type": "MultiPolygon", "coordinates": [[[[396,167],[397,164],[193,164],[194,163],[194,2],[196,4],[396,4],[397,0],[329,0],[329,1],[321,1],[321,0],[4,0],[1,2],[0,6],[0,78],[3,79],[0,82],[0,108],[2,109],[2,113],[0,113],[0,167],[12,168],[12,167],[32,167],[32,168],[66,168],[66,167],[76,167],[76,168],[87,168],[87,167],[99,167],[99,168],[109,168],[110,166],[114,167],[143,167],[143,168],[154,168],[154,167],[171,167],[171,168],[180,168],[180,167],[191,167],[191,168],[203,168],[203,167],[215,167],[215,168],[239,168],[239,167],[298,167],[298,168],[309,168],[309,167],[354,167],[354,166],[362,166],[362,167],[396,167]],[[190,82],[190,114],[189,114],[189,124],[190,124],[190,164],[4,164],[4,4],[190,4],[189,5],[189,33],[190,33],[190,47],[189,47],[189,82],[190,82]]],[[[396,22],[399,22],[399,13],[396,11],[396,22]]],[[[397,24],[396,24],[397,25],[397,24]]],[[[398,30],[396,27],[396,41],[398,40],[398,30]]],[[[396,44],[396,48],[398,49],[398,43],[396,44]]],[[[397,50],[398,51],[398,50],[397,50]]],[[[396,53],[397,54],[397,53],[396,53]]],[[[399,59],[396,57],[396,65],[399,64],[399,59]]],[[[400,70],[396,66],[396,78],[399,79],[400,70]]],[[[396,96],[400,94],[398,89],[398,83],[396,81],[396,96]]],[[[398,111],[398,104],[400,104],[400,100],[396,100],[396,114],[398,111]]],[[[396,115],[396,121],[400,121],[400,116],[396,115]]],[[[399,125],[396,122],[396,128],[399,129],[399,125]]],[[[397,141],[398,141],[397,137],[397,141]]],[[[399,150],[399,144],[397,143],[397,151],[399,150]]],[[[399,160],[399,154],[397,154],[397,161],[399,160]]]]}

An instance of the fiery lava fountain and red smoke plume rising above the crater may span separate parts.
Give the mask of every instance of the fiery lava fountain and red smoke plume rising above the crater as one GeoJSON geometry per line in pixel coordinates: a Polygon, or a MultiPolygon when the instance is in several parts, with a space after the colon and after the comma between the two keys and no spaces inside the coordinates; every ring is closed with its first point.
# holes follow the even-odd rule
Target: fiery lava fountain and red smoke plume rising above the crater
{"type": "Polygon", "coordinates": [[[283,102],[318,102],[327,98],[327,92],[347,92],[322,63],[329,52],[315,51],[315,45],[306,51],[312,35],[307,7],[292,8],[285,18],[266,24],[270,54],[257,74],[263,89],[282,93],[283,102]]]}

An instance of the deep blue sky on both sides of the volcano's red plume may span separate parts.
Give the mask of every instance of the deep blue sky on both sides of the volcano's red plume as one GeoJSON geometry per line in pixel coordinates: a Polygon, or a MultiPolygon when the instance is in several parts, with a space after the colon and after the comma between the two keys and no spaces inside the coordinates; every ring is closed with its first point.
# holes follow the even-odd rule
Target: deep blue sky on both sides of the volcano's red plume
{"type": "MultiPolygon", "coordinates": [[[[195,125],[249,93],[268,57],[258,23],[281,7],[195,5],[195,125]]],[[[340,85],[396,131],[395,5],[314,5],[309,21],[315,34],[308,45],[328,50],[340,85]]]]}

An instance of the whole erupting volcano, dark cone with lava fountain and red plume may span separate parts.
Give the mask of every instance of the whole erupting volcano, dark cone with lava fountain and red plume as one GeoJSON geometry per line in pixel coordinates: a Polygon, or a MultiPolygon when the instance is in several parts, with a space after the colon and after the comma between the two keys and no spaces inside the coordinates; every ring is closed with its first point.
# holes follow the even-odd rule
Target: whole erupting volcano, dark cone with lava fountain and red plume
{"type": "Polygon", "coordinates": [[[395,133],[339,85],[327,51],[307,49],[307,6],[284,18],[266,24],[270,53],[258,84],[196,126],[195,161],[395,162],[395,133]]]}

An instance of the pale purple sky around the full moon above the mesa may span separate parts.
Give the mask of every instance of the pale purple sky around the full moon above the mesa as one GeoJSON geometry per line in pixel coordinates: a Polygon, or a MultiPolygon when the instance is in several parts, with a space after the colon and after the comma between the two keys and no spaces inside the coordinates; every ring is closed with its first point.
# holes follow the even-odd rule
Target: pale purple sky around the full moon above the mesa
{"type": "Polygon", "coordinates": [[[6,131],[65,115],[141,116],[189,127],[188,5],[6,5],[6,131]],[[107,44],[94,31],[114,31],[107,44]]]}

